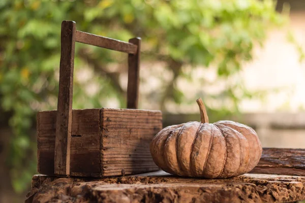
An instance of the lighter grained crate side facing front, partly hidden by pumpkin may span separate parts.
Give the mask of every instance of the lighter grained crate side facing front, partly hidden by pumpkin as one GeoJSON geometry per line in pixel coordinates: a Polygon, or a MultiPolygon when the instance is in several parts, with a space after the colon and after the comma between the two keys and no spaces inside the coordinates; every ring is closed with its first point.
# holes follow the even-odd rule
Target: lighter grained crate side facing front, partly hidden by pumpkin
{"type": "Polygon", "coordinates": [[[162,129],[160,111],[103,109],[101,111],[103,176],[158,170],[149,144],[162,129]]]}

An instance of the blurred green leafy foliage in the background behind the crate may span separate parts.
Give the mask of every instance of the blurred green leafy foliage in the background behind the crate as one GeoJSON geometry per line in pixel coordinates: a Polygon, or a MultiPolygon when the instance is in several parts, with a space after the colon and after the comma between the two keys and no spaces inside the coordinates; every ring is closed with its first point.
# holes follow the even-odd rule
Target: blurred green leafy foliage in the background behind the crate
{"type": "MultiPolygon", "coordinates": [[[[177,87],[178,78],[192,80],[184,71],[186,65],[212,65],[219,78],[236,75],[241,64],[252,59],[253,46],[262,45],[267,30],[283,24],[285,17],[271,0],[1,0],[0,114],[10,113],[14,137],[8,163],[19,192],[36,172],[36,138],[29,136],[35,134],[30,131],[35,114],[56,109],[63,20],[76,21],[78,30],[114,39],[140,36],[141,60],[162,61],[171,73],[158,96],[151,96],[166,111],[168,101],[186,101],[177,87]]],[[[100,108],[108,97],[118,98],[125,108],[126,88],[120,77],[126,72],[126,57],[82,44],[76,45],[75,55],[75,74],[87,71],[97,77],[76,77],[73,108],[100,108]],[[116,71],[111,70],[114,64],[116,71]],[[93,88],[94,84],[98,86],[93,88]]],[[[252,95],[238,83],[210,96],[229,100],[237,108],[241,98],[252,95]]],[[[227,112],[225,107],[221,110],[227,112]]]]}

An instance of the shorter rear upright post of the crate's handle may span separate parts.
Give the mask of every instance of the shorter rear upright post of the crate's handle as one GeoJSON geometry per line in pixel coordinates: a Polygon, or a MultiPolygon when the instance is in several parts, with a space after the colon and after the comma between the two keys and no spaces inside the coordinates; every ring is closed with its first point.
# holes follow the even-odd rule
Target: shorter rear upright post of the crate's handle
{"type": "Polygon", "coordinates": [[[141,38],[133,38],[129,42],[137,46],[137,51],[135,54],[128,54],[127,109],[137,109],[139,100],[141,38]]]}

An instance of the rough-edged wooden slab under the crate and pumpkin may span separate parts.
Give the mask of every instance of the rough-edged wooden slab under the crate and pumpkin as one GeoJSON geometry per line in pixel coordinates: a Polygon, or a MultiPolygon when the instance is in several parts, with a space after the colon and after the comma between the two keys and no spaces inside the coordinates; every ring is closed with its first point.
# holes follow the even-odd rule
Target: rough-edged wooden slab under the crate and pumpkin
{"type": "Polygon", "coordinates": [[[303,176],[245,174],[207,180],[158,171],[110,178],[35,175],[25,202],[295,202],[304,199],[303,176]]]}

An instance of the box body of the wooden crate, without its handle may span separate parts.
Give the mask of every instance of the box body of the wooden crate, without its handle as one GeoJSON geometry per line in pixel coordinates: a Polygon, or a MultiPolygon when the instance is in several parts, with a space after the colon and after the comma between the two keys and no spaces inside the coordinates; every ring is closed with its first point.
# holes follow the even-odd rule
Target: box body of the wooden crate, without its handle
{"type": "MultiPolygon", "coordinates": [[[[38,172],[53,175],[56,111],[37,115],[38,172]]],[[[162,129],[160,111],[85,109],[72,112],[71,176],[157,171],[149,143],[162,129]]]]}

